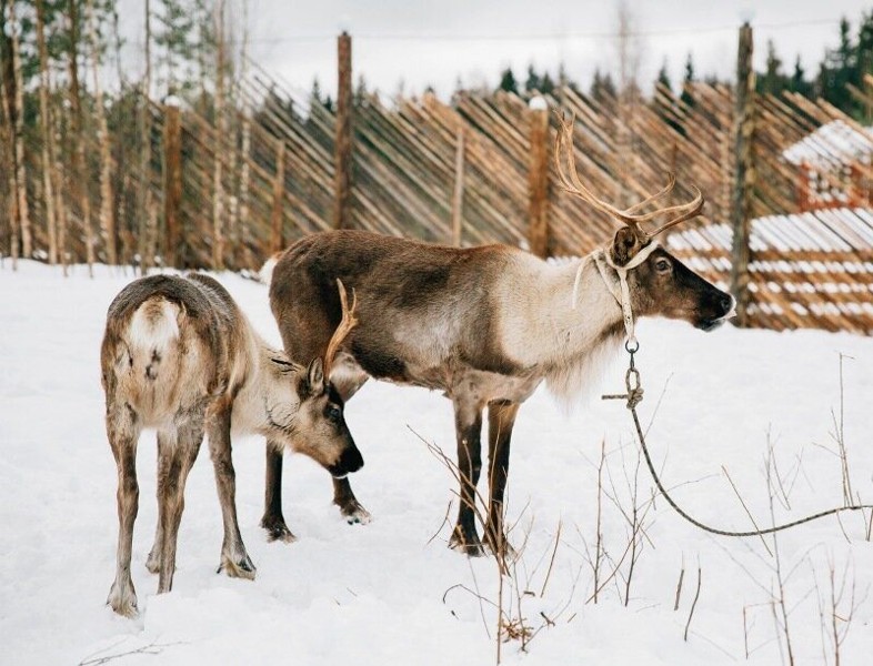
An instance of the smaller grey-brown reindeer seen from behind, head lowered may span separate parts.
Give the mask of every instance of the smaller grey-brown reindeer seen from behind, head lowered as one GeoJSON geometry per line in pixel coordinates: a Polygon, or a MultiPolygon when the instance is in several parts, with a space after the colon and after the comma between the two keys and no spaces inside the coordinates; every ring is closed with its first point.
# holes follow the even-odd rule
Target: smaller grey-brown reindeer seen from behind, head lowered
{"type": "Polygon", "coordinates": [[[158,431],[158,528],[146,566],[160,574],[159,593],[172,587],[184,484],[204,433],[224,523],[219,571],[234,577],[253,578],[254,565],[237,522],[231,431],[265,435],[275,455],[303,453],[335,478],[363,465],[328,381],[332,354],[354,325],[354,304],[349,311],[340,290],[340,325],[308,369],[268,346],[208,275],[142,278],[112,301],[100,365],[118,465],[118,568],[107,599],[116,613],[137,614],[130,556],[142,428],[158,431]]]}

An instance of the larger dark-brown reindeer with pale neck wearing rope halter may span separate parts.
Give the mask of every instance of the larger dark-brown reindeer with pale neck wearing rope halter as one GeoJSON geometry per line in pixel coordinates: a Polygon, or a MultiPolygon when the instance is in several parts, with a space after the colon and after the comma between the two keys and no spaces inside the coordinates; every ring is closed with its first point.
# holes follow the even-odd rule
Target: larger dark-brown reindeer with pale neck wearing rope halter
{"type": "MultiPolygon", "coordinates": [[[[340,302],[341,279],[361,293],[359,325],[343,341],[331,381],[349,400],[368,376],[443,391],[454,405],[460,507],[450,545],[482,554],[473,501],[481,468],[482,412],[488,407],[490,501],[485,539],[504,545],[503,494],[510,437],[519,406],[545,381],[569,398],[599,381],[604,359],[625,331],[622,292],[635,316],[685,320],[710,331],[733,309],[732,297],[693,273],[653,236],[700,214],[703,196],[651,213],[636,211],[666,194],[618,210],[594,196],[575,172],[572,127],[556,150],[563,189],[624,226],[612,242],[570,264],[549,264],[508,245],[456,249],[361,231],[310,235],[284,251],[272,271],[270,304],[289,356],[323,353],[340,302]],[[561,153],[571,165],[564,171],[561,153]],[[643,223],[673,218],[654,231],[643,223]],[[622,286],[624,285],[624,286],[622,286]]],[[[629,329],[630,331],[630,329],[629,329]]],[[[281,525],[275,492],[281,458],[269,452],[263,525],[281,525]]],[[[334,503],[365,518],[348,480],[333,481],[334,503]]]]}

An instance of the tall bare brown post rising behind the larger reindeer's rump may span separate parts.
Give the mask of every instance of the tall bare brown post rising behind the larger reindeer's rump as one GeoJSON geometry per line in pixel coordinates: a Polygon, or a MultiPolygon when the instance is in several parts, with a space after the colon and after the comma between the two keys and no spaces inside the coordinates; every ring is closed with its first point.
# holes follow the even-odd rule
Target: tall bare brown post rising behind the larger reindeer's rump
{"type": "Polygon", "coordinates": [[[334,141],[333,228],[351,226],[352,192],[352,38],[343,32],[337,38],[338,87],[337,134],[334,141]]]}

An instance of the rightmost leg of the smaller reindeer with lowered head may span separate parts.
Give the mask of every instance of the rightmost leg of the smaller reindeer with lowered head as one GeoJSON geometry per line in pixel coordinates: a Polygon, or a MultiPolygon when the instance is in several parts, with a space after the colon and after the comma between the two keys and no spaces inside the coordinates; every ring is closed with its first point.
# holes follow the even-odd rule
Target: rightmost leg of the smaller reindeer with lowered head
{"type": "Polygon", "coordinates": [[[209,456],[215,468],[221,518],[224,524],[224,541],[221,544],[219,572],[232,578],[254,578],[254,565],[242,543],[237,518],[237,472],[233,470],[230,442],[231,407],[220,406],[208,420],[209,456]]]}

